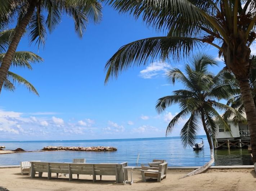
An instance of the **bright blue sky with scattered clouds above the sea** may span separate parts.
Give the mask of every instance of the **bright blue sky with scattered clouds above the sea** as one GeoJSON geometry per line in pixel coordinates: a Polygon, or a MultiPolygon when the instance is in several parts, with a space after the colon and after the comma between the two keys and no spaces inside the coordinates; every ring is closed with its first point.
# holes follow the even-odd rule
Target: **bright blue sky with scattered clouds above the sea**
{"type": "MultiPolygon", "coordinates": [[[[174,105],[158,115],[158,98],[181,89],[164,76],[177,63],[149,63],[131,68],[117,80],[104,85],[104,66],[124,44],[134,40],[160,36],[142,20],[120,15],[104,6],[100,24],[90,23],[82,39],[74,32],[71,18],[48,33],[44,48],[28,42],[25,35],[18,51],[32,51],[44,62],[33,64],[33,70],[11,68],[30,81],[40,97],[22,86],[15,92],[0,95],[1,140],[69,140],[164,137],[168,122],[178,113],[174,105]]],[[[217,58],[212,47],[199,52],[217,58]]],[[[186,62],[186,61],[185,61],[186,62]]],[[[212,68],[217,72],[219,68],[212,68]]],[[[181,121],[170,136],[179,136],[181,121]]],[[[203,134],[203,131],[199,132],[203,134]]]]}

